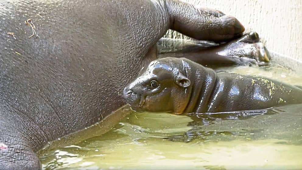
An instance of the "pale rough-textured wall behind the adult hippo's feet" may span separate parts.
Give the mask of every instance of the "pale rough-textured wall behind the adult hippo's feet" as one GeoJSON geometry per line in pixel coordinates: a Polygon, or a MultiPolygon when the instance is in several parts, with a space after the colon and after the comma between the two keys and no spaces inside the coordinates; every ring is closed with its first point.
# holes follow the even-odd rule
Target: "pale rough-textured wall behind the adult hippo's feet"
{"type": "MultiPolygon", "coordinates": [[[[302,61],[302,0],[182,0],[235,16],[269,50],[302,61]]],[[[174,31],[168,37],[185,38],[174,31]]]]}

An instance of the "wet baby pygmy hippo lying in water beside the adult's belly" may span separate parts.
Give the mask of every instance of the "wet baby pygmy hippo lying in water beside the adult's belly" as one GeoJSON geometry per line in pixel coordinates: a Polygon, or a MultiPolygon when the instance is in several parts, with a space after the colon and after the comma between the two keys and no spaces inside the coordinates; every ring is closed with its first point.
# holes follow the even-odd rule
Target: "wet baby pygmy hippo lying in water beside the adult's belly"
{"type": "Polygon", "coordinates": [[[264,77],[215,73],[186,58],[161,58],[124,89],[135,111],[215,113],[302,103],[302,89],[264,77]]]}

